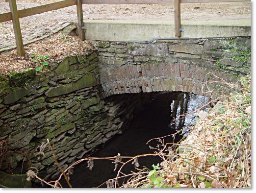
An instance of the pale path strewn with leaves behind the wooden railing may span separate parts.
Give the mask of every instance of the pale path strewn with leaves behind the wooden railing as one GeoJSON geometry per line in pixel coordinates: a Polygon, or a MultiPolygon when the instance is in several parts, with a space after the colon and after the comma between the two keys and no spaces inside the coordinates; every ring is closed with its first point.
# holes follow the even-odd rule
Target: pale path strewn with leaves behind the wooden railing
{"type": "MultiPolygon", "coordinates": [[[[18,9],[59,0],[18,0],[18,9]]],[[[9,4],[0,0],[0,13],[9,4]]],[[[20,19],[24,42],[34,41],[51,31],[77,21],[76,6],[20,19]]],[[[173,4],[83,5],[84,20],[173,20],[173,4]]],[[[181,21],[231,21],[251,19],[251,2],[181,4],[181,21]]],[[[15,47],[12,22],[0,23],[0,50],[15,47]]]]}

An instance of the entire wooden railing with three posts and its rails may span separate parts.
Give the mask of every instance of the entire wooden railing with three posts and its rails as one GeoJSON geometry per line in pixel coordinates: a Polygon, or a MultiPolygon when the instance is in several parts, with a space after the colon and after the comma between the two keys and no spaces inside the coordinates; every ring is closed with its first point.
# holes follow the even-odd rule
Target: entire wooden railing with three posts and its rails
{"type": "Polygon", "coordinates": [[[25,56],[21,27],[19,18],[32,16],[47,11],[52,11],[72,5],[77,5],[77,29],[78,36],[85,40],[85,29],[83,23],[82,4],[158,4],[174,3],[174,24],[175,36],[181,36],[180,29],[180,3],[205,3],[205,2],[234,2],[234,1],[251,1],[251,0],[62,0],[59,2],[49,3],[27,9],[17,10],[16,0],[9,0],[10,12],[0,14],[0,23],[12,20],[15,41],[18,53],[25,56]]]}

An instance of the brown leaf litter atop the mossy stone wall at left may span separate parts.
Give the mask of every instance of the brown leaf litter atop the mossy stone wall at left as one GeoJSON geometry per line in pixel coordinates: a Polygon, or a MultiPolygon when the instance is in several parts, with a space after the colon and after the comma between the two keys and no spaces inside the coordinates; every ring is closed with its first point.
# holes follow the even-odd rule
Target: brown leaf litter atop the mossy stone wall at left
{"type": "Polygon", "coordinates": [[[29,68],[48,71],[48,64],[60,62],[67,56],[86,54],[94,49],[77,35],[58,32],[50,37],[25,46],[26,56],[17,54],[17,49],[0,53],[0,74],[8,76],[11,72],[23,72],[29,68]],[[44,68],[45,67],[45,68],[44,68]]]}

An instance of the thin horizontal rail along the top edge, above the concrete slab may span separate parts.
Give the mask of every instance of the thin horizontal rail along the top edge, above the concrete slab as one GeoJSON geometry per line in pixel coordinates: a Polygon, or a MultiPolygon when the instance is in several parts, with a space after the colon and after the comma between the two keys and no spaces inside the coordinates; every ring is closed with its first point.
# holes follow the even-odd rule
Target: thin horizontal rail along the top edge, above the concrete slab
{"type": "MultiPolygon", "coordinates": [[[[180,3],[237,2],[251,0],[180,0],[180,3]]],[[[174,3],[174,0],[82,0],[82,4],[158,4],[174,3]]]]}

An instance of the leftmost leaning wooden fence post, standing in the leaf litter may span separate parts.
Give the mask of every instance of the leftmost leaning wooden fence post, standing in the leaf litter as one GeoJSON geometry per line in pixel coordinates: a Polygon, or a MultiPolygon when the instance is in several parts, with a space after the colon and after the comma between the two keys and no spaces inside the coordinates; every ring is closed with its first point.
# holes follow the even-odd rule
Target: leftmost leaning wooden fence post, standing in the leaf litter
{"type": "Polygon", "coordinates": [[[20,26],[20,21],[18,16],[16,0],[9,0],[9,6],[12,14],[12,24],[13,24],[13,30],[14,30],[18,54],[20,54],[21,56],[25,56],[25,50],[24,50],[23,41],[22,41],[21,26],[20,26]]]}

